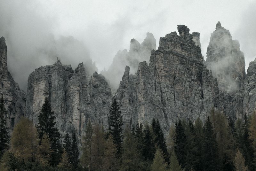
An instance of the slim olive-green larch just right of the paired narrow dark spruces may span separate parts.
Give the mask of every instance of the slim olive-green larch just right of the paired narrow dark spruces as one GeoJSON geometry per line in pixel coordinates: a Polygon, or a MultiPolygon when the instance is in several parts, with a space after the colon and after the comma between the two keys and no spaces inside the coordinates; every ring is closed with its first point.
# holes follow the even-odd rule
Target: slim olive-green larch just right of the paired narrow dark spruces
{"type": "Polygon", "coordinates": [[[92,123],[89,119],[85,128],[80,159],[82,166],[89,170],[92,170],[92,133],[92,123]]]}

